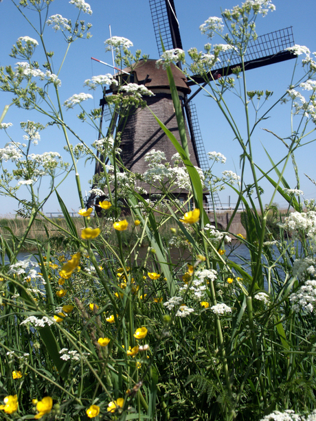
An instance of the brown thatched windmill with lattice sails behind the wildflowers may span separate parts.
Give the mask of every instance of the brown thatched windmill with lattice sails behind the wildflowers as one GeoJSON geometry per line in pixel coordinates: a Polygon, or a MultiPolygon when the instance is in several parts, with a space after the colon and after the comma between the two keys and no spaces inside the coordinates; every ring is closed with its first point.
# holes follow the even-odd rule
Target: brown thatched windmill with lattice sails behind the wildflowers
{"type": "MultiPolygon", "coordinates": [[[[163,53],[161,39],[165,49],[183,49],[174,0],[149,0],[149,4],[159,56],[163,53]]],[[[295,54],[286,50],[286,48],[293,45],[294,40],[291,27],[258,36],[256,40],[250,41],[247,46],[247,52],[244,57],[245,69],[255,69],[295,58],[295,54]]],[[[232,52],[232,50],[222,52],[220,59],[207,75],[209,80],[216,80],[221,75],[227,76],[232,73],[235,67],[242,66],[240,57],[238,54],[232,52]]],[[[190,87],[196,83],[206,84],[205,79],[200,75],[194,75],[191,77],[191,80],[186,80],[181,72],[181,67],[177,69],[177,67],[172,66],[172,73],[183,110],[185,111],[190,160],[194,166],[199,166],[202,170],[208,170],[210,167],[199,128],[199,119],[196,113],[196,107],[191,102],[192,98],[203,88],[200,87],[193,95],[188,96],[191,93],[190,87]]],[[[153,110],[155,115],[159,117],[180,141],[166,71],[163,71],[162,68],[157,69],[155,67],[155,60],[148,60],[147,62],[140,60],[132,70],[129,81],[144,84],[155,93],[154,97],[144,97],[144,100],[146,100],[148,107],[153,110]]],[[[113,118],[117,120],[117,115],[113,116],[106,106],[105,97],[112,92],[111,89],[104,90],[104,98],[100,102],[104,121],[113,118]]],[[[173,146],[169,139],[163,133],[157,122],[155,122],[153,115],[151,115],[148,109],[143,109],[142,111],[136,110],[124,122],[120,119],[117,121],[117,130],[122,130],[120,147],[122,148],[122,161],[126,168],[133,172],[144,173],[146,171],[144,155],[153,148],[163,150],[166,153],[167,160],[170,161],[175,150],[172,150],[173,146]]],[[[99,172],[100,165],[97,163],[95,173],[98,174],[99,172]]],[[[176,192],[176,194],[181,198],[181,192],[176,192]]],[[[214,207],[220,205],[217,193],[213,195],[212,199],[212,205],[214,207]]],[[[92,201],[93,197],[90,196],[88,203],[91,204],[92,201]]]]}

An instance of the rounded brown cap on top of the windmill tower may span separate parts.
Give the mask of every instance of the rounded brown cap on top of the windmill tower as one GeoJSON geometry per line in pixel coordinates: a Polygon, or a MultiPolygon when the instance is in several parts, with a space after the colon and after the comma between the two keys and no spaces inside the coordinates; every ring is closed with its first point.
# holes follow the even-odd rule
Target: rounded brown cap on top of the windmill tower
{"type": "MultiPolygon", "coordinates": [[[[136,76],[134,82],[138,84],[144,84],[148,89],[170,89],[167,71],[162,66],[159,69],[156,67],[157,60],[139,60],[137,65],[131,69],[126,67],[124,71],[132,72],[136,76]]],[[[191,92],[188,86],[188,80],[185,75],[175,65],[171,65],[172,76],[174,83],[176,84],[177,91],[181,91],[185,94],[191,92]]]]}

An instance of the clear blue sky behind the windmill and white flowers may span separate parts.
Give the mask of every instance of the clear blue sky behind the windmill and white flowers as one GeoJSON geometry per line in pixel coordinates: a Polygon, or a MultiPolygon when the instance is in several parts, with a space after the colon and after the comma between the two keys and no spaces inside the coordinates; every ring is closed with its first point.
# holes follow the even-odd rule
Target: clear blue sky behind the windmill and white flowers
{"type": "MultiPolygon", "coordinates": [[[[60,72],[60,79],[62,80],[62,87],[60,88],[60,99],[63,101],[67,100],[74,93],[86,92],[88,89],[83,87],[84,80],[91,78],[91,76],[97,76],[102,73],[111,72],[111,69],[101,65],[98,62],[91,60],[91,57],[98,58],[99,60],[111,63],[111,53],[105,53],[104,41],[109,38],[109,25],[111,25],[112,35],[124,36],[133,41],[134,49],[142,49],[144,54],[149,54],[150,58],[157,57],[157,46],[155,41],[155,34],[153,31],[153,25],[151,22],[150,7],[148,0],[135,0],[133,2],[127,2],[123,0],[117,1],[106,1],[106,0],[91,0],[88,1],[93,10],[91,16],[85,14],[80,19],[84,19],[86,22],[92,23],[91,34],[93,35],[89,40],[78,40],[71,45],[69,54],[65,65],[60,72]]],[[[175,7],[177,9],[177,16],[180,23],[181,38],[183,43],[183,49],[188,50],[191,47],[196,47],[199,51],[203,50],[203,45],[209,40],[206,36],[203,36],[199,31],[199,25],[203,23],[209,16],[220,16],[221,8],[232,8],[238,4],[237,1],[232,0],[221,0],[221,1],[205,1],[205,0],[174,0],[175,7]]],[[[304,0],[301,2],[294,0],[275,0],[273,2],[276,6],[275,12],[269,13],[266,17],[258,17],[256,22],[256,31],[258,35],[279,30],[284,27],[293,27],[293,34],[295,43],[299,45],[306,45],[311,49],[311,52],[316,51],[316,27],[315,27],[315,12],[316,3],[315,0],[304,0]]],[[[74,5],[70,5],[67,0],[55,0],[49,8],[49,16],[53,14],[62,14],[68,19],[76,20],[77,9],[74,5]]],[[[34,12],[28,12],[27,16],[36,22],[36,15],[34,12]]],[[[14,7],[14,4],[10,0],[4,0],[0,3],[0,24],[1,24],[1,44],[0,44],[0,65],[12,65],[16,63],[16,59],[10,58],[10,50],[12,44],[16,43],[19,36],[31,36],[37,38],[36,33],[32,28],[25,22],[23,16],[14,7]]],[[[67,44],[63,40],[63,36],[60,32],[54,32],[52,27],[47,27],[45,30],[45,38],[47,42],[47,49],[54,50],[56,60],[56,67],[58,69],[63,54],[67,48],[67,44]]],[[[214,40],[214,43],[221,42],[218,39],[214,40]]],[[[41,64],[41,52],[38,49],[34,59],[38,60],[41,64]]],[[[289,87],[291,75],[295,60],[288,62],[282,62],[277,65],[269,67],[262,67],[247,72],[247,89],[251,90],[266,90],[273,91],[273,97],[269,100],[269,104],[272,104],[274,100],[277,100],[284,91],[289,87]]],[[[296,69],[297,75],[302,75],[300,65],[296,69]]],[[[92,91],[93,100],[85,102],[84,106],[87,110],[98,107],[99,100],[101,97],[101,91],[92,91]]],[[[245,117],[240,104],[236,101],[232,95],[229,97],[230,104],[232,104],[232,112],[236,116],[236,120],[240,122],[240,126],[244,126],[245,117]]],[[[5,104],[10,104],[11,96],[8,93],[0,93],[0,111],[3,110],[5,104]]],[[[205,94],[200,93],[197,95],[196,109],[199,115],[199,122],[201,126],[201,133],[203,135],[205,150],[221,152],[227,157],[225,166],[217,164],[214,166],[214,172],[221,174],[223,170],[233,170],[240,173],[239,168],[239,156],[240,148],[234,136],[225,124],[225,120],[216,109],[216,105],[207,98],[205,94]]],[[[76,128],[80,133],[82,139],[87,144],[93,143],[98,137],[97,130],[82,124],[76,117],[79,109],[69,110],[65,112],[65,117],[69,125],[76,128]]],[[[41,116],[36,115],[32,111],[23,111],[16,109],[13,106],[10,107],[8,114],[5,117],[4,122],[12,122],[14,126],[10,128],[10,135],[15,141],[23,141],[23,133],[19,129],[19,122],[34,120],[41,122],[41,116]]],[[[290,106],[289,104],[278,106],[275,113],[273,113],[271,119],[260,124],[260,128],[256,130],[253,135],[253,153],[255,161],[262,168],[269,168],[269,161],[264,153],[266,148],[271,157],[275,161],[282,157],[286,150],[276,137],[269,135],[262,128],[269,128],[273,130],[280,137],[287,137],[291,133],[291,119],[290,119],[290,106]]],[[[312,129],[313,127],[311,127],[312,129]]],[[[243,131],[243,129],[242,129],[243,131]]],[[[316,136],[311,135],[311,140],[316,136]]],[[[0,148],[3,148],[8,138],[5,136],[3,130],[0,131],[0,148]]],[[[74,143],[77,143],[72,139],[74,143]]],[[[48,128],[42,132],[42,140],[40,144],[34,147],[32,152],[43,153],[47,150],[60,152],[63,155],[65,161],[69,161],[67,153],[63,151],[64,141],[60,130],[56,128],[48,128]]],[[[304,173],[308,174],[312,179],[316,179],[315,174],[315,144],[311,143],[304,148],[300,148],[297,151],[297,166],[299,168],[299,174],[301,178],[301,190],[304,191],[305,198],[314,198],[316,196],[316,187],[306,179],[304,173]]],[[[84,162],[79,164],[79,172],[82,183],[82,191],[85,194],[89,191],[89,179],[93,174],[94,164],[87,163],[84,166],[84,162]]],[[[248,171],[248,170],[247,170],[248,171]]],[[[248,174],[248,172],[247,172],[248,174]]],[[[288,180],[291,187],[295,187],[295,177],[291,162],[289,162],[289,168],[286,170],[286,179],[288,180]]],[[[43,189],[45,183],[43,183],[43,189]]],[[[268,203],[271,197],[272,189],[269,184],[264,183],[264,203],[268,203]]],[[[21,196],[27,196],[27,187],[21,187],[21,196]]],[[[78,210],[80,203],[76,194],[76,185],[74,182],[74,173],[70,174],[66,183],[58,190],[60,196],[63,197],[69,211],[78,210]]],[[[220,193],[220,198],[223,203],[228,201],[228,196],[231,196],[231,200],[234,201],[233,192],[224,190],[220,193]]],[[[284,206],[284,201],[281,196],[275,196],[275,202],[280,203],[280,207],[284,206]]],[[[8,198],[1,196],[1,214],[14,214],[14,209],[17,209],[17,203],[8,198]]],[[[48,203],[44,207],[44,212],[56,212],[59,210],[58,203],[55,197],[49,199],[48,203]]]]}

